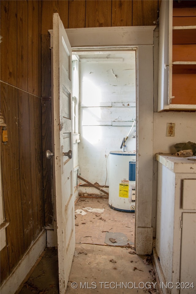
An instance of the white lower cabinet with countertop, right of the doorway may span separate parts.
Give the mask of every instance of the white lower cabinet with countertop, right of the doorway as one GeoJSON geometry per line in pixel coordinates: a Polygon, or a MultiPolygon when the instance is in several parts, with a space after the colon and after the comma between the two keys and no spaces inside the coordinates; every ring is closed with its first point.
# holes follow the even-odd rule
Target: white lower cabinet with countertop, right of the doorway
{"type": "Polygon", "coordinates": [[[158,190],[155,250],[164,275],[163,280],[170,282],[168,293],[194,294],[196,162],[171,154],[157,154],[156,159],[158,190]]]}

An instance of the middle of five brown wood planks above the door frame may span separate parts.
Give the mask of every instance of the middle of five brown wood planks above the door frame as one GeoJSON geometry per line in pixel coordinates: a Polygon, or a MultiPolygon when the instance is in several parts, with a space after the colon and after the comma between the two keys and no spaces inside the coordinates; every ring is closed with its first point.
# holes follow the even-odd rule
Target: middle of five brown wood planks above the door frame
{"type": "Polygon", "coordinates": [[[86,1],[86,28],[111,26],[111,0],[86,1]]]}

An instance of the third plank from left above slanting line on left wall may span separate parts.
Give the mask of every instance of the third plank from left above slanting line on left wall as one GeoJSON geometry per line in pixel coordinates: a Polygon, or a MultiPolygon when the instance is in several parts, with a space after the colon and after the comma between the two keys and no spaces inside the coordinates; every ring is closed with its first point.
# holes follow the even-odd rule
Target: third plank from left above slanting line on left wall
{"type": "Polygon", "coordinates": [[[39,95],[39,1],[28,0],[28,92],[39,95]]]}

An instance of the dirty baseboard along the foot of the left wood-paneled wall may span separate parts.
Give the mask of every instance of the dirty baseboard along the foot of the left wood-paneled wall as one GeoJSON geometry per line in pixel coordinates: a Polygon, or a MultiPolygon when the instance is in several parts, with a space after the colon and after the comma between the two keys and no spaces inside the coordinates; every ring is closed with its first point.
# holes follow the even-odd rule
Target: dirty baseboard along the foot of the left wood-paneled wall
{"type": "Polygon", "coordinates": [[[1,285],[1,294],[13,294],[17,291],[45,247],[46,231],[44,230],[28,249],[10,276],[3,282],[1,285]]]}

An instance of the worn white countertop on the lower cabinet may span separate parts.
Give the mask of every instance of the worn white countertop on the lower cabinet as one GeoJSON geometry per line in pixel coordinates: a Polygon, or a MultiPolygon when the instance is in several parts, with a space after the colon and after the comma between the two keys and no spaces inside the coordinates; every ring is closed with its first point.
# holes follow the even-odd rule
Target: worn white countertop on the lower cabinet
{"type": "Polygon", "coordinates": [[[157,153],[156,160],[173,172],[196,173],[196,161],[188,159],[190,156],[176,156],[175,154],[157,153]]]}

